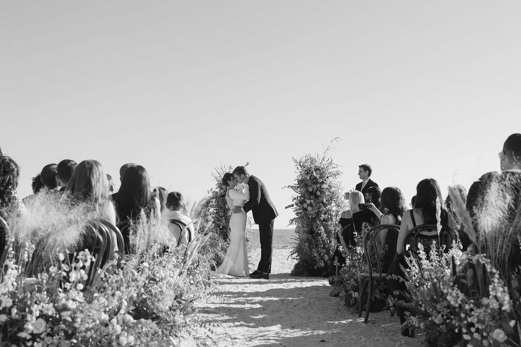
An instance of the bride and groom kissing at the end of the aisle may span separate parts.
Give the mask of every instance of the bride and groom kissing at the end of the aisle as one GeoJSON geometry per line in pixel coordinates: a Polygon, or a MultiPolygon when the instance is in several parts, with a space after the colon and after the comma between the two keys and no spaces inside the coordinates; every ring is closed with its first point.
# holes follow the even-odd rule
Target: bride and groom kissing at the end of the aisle
{"type": "Polygon", "coordinates": [[[233,172],[225,173],[222,177],[222,185],[228,189],[226,202],[232,211],[231,233],[230,246],[224,261],[216,270],[216,275],[218,277],[248,276],[246,213],[252,211],[253,221],[259,226],[261,261],[250,277],[269,279],[273,250],[273,223],[279,214],[269,197],[268,189],[260,179],[250,175],[244,166],[237,166],[233,172]]]}

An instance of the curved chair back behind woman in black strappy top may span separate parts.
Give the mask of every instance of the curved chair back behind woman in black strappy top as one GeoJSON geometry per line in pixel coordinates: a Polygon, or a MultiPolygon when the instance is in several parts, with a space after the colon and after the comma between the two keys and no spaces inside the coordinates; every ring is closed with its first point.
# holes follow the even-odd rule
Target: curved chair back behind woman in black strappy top
{"type": "MultiPolygon", "coordinates": [[[[454,240],[454,234],[450,232],[450,230],[442,228],[440,233],[432,234],[432,235],[425,235],[425,232],[432,232],[433,230],[438,230],[438,225],[436,224],[423,224],[418,225],[409,230],[409,233],[404,239],[403,243],[403,252],[406,256],[413,255],[416,256],[416,252],[418,250],[418,242],[421,242],[421,240],[426,240],[429,245],[432,243],[432,241],[436,241],[438,244],[438,247],[442,247],[445,245],[444,251],[448,251],[450,248],[450,245],[452,244],[452,241],[454,240]],[[407,247],[409,246],[409,247],[407,247]]],[[[425,249],[425,253],[427,254],[427,257],[429,256],[430,246],[428,249],[425,249]]]]}

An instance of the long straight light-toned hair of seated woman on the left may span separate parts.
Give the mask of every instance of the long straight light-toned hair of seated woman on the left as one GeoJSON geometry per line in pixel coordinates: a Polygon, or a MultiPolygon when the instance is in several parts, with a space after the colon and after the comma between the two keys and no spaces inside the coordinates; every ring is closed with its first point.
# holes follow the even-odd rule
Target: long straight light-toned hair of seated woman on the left
{"type": "Polygon", "coordinates": [[[98,206],[108,201],[108,179],[102,164],[96,160],[83,160],[76,166],[66,191],[98,206]]]}

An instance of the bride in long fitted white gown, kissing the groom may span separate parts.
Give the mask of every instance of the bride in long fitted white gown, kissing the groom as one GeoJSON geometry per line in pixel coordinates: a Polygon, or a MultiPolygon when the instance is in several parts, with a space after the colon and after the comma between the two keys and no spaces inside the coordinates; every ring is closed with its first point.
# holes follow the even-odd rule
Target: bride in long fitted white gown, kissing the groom
{"type": "MultiPolygon", "coordinates": [[[[250,199],[247,185],[237,185],[237,180],[230,172],[222,177],[222,184],[228,187],[226,202],[233,211],[234,206],[244,205],[250,199]]],[[[217,268],[219,277],[232,275],[237,277],[248,276],[248,255],[246,253],[246,213],[233,213],[230,217],[230,246],[226,251],[225,259],[217,268]]]]}

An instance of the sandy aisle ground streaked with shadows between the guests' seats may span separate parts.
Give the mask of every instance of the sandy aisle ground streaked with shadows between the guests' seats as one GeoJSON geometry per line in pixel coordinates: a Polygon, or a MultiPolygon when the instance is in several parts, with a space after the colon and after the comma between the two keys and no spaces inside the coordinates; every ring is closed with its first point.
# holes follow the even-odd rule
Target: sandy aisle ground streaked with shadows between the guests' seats
{"type": "MultiPolygon", "coordinates": [[[[212,332],[201,329],[181,345],[203,346],[420,346],[424,337],[403,338],[398,317],[371,313],[369,322],[338,298],[327,279],[294,277],[289,249],[274,249],[269,280],[215,279],[212,299],[201,306],[212,332]]],[[[252,250],[257,264],[260,250],[252,250]]],[[[255,266],[256,268],[256,266],[255,266]]]]}

